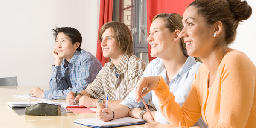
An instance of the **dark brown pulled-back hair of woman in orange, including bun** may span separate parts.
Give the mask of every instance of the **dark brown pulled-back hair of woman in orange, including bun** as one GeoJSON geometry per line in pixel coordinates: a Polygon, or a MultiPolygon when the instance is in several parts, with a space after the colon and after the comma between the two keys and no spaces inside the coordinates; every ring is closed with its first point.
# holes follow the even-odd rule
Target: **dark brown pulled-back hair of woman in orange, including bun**
{"type": "Polygon", "coordinates": [[[208,24],[221,21],[226,45],[235,40],[239,22],[247,20],[252,14],[252,8],[246,1],[241,0],[195,0],[189,6],[195,6],[198,14],[203,16],[208,24]]]}

